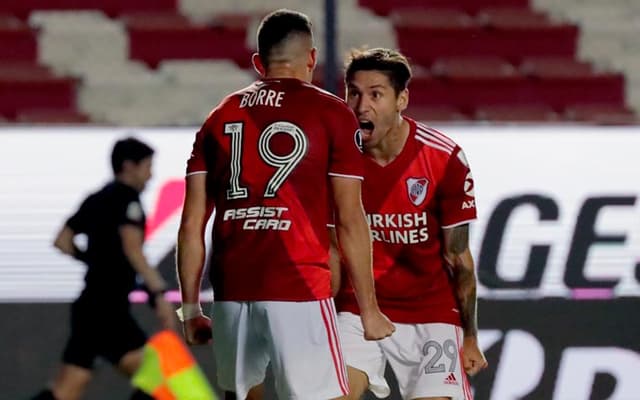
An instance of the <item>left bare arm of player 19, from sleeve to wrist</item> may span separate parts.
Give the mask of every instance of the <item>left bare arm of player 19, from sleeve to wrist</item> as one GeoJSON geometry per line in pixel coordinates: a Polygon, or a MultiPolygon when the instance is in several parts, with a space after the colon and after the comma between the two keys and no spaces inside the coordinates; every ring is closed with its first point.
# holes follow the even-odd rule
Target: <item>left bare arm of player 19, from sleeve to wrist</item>
{"type": "Polygon", "coordinates": [[[199,303],[204,270],[204,230],[213,210],[207,202],[206,174],[187,177],[182,219],[178,231],[177,272],[183,303],[199,303]]]}

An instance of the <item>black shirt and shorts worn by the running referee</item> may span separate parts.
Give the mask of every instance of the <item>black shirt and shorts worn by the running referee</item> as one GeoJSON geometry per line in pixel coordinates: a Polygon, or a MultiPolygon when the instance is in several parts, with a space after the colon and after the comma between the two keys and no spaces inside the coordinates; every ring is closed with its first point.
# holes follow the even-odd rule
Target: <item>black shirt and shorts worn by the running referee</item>
{"type": "Polygon", "coordinates": [[[138,192],[113,181],[91,194],[67,221],[76,234],[86,234],[85,287],[71,308],[71,337],[63,354],[66,364],[86,369],[100,356],[117,364],[126,353],[144,346],[146,335],[130,313],[129,292],[136,272],[124,253],[119,229],[145,228],[138,192]]]}

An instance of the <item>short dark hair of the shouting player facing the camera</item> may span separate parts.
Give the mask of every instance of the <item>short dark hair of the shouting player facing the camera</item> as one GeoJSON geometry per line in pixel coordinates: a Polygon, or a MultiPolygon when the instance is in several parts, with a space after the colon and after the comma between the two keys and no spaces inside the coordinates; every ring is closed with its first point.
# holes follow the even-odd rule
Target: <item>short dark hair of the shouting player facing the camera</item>
{"type": "Polygon", "coordinates": [[[380,71],[389,78],[396,95],[405,90],[411,80],[411,66],[407,57],[392,49],[351,50],[345,69],[347,85],[358,71],[380,71]]]}

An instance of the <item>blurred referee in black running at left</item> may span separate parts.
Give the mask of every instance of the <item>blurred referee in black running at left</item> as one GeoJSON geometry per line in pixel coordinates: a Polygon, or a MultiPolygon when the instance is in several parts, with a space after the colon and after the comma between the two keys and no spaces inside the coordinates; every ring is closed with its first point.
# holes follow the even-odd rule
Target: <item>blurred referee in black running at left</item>
{"type": "MultiPolygon", "coordinates": [[[[142,251],[146,219],[139,194],[151,178],[152,159],[153,149],[147,144],[134,138],[118,141],[111,154],[115,179],[87,197],[55,239],[55,247],[88,268],[84,290],[71,306],[71,337],[63,364],[50,388],[35,400],[81,398],[97,357],[126,376],[136,371],[146,342],[129,310],[136,274],[144,280],[162,326],[174,328],[173,306],[163,296],[165,282],[142,251]],[[86,251],[76,247],[78,234],[88,238],[86,251]]],[[[131,397],[150,398],[142,392],[131,397]]]]}

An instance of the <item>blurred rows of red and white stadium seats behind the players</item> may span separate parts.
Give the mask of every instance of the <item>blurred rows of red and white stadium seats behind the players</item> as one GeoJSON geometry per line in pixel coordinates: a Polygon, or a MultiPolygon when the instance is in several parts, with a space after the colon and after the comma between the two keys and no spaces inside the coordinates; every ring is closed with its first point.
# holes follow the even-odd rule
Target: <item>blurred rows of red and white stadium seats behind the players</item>
{"type": "MultiPolygon", "coordinates": [[[[320,3],[279,6],[309,14],[321,38],[320,3]]],[[[340,0],[336,6],[339,59],[354,46],[402,50],[417,71],[411,112],[420,118],[582,121],[586,116],[576,109],[608,105],[600,115],[628,123],[634,114],[626,101],[640,105],[640,45],[628,35],[640,7],[624,12],[594,0],[340,0]],[[609,18],[619,24],[603,23],[609,18]],[[613,53],[618,56],[607,59],[613,53]],[[598,57],[605,61],[594,64],[598,57]]],[[[224,94],[254,79],[254,31],[268,11],[258,0],[3,2],[0,115],[199,124],[224,94]]]]}

